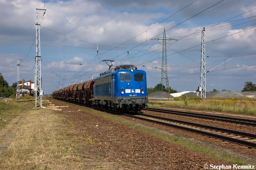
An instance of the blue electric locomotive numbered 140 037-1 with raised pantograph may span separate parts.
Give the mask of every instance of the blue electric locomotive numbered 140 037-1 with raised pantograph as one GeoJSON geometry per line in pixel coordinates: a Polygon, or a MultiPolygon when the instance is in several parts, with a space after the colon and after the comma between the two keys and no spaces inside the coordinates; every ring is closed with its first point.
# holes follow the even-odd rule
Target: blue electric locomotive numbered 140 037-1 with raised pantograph
{"type": "MultiPolygon", "coordinates": [[[[112,61],[112,60],[103,60],[112,61]]],[[[134,65],[120,65],[95,78],[94,104],[109,110],[133,110],[145,108],[148,103],[146,72],[134,65]]]]}

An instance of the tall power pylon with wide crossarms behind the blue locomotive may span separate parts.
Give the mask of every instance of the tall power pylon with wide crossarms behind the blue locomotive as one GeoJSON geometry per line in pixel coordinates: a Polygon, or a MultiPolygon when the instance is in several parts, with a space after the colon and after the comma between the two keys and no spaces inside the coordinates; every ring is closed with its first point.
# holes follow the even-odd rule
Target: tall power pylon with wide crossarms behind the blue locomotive
{"type": "MultiPolygon", "coordinates": [[[[168,89],[169,87],[168,87],[168,81],[167,81],[167,50],[166,50],[166,40],[176,40],[176,39],[167,38],[166,34],[165,34],[165,28],[164,28],[164,36],[160,37],[160,38],[153,38],[152,40],[163,40],[161,84],[164,85],[166,89],[168,89]]],[[[159,90],[162,92],[163,91],[163,86],[160,86],[159,90]]]]}

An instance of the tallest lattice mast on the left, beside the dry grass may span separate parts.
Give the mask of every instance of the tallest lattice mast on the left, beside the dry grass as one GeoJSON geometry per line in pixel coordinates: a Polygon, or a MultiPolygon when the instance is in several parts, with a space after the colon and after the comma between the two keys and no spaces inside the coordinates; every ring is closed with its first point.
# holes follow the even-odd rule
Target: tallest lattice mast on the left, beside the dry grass
{"type": "Polygon", "coordinates": [[[42,80],[41,80],[41,54],[40,54],[40,23],[39,23],[39,11],[45,9],[36,9],[36,68],[35,68],[35,98],[36,98],[36,107],[37,104],[40,104],[42,107],[42,80]]]}

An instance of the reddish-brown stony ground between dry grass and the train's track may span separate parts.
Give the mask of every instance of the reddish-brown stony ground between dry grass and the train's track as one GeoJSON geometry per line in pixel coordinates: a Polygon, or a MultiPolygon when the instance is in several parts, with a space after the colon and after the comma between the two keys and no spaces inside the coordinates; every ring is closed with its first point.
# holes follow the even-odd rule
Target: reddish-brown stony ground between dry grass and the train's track
{"type": "MultiPolygon", "coordinates": [[[[58,101],[52,104],[64,105],[58,101]]],[[[58,112],[67,118],[70,137],[80,146],[77,151],[83,158],[116,162],[116,169],[204,169],[210,164],[231,165],[74,107],[58,112]]]]}

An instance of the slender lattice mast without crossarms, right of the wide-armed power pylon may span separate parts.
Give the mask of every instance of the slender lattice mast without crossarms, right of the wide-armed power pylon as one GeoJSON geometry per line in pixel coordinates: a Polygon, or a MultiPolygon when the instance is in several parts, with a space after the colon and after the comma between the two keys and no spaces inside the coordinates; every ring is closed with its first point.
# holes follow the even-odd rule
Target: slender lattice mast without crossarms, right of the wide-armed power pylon
{"type": "Polygon", "coordinates": [[[200,87],[199,87],[201,99],[206,98],[205,91],[205,29],[202,30],[202,45],[201,45],[201,69],[200,69],[200,87]]]}

